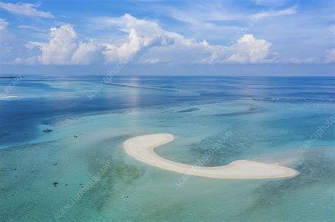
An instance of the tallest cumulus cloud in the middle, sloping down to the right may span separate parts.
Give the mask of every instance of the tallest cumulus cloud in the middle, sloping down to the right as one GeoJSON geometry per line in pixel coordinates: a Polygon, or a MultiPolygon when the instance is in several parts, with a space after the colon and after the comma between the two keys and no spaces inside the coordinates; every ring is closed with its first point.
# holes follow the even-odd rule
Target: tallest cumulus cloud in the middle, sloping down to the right
{"type": "Polygon", "coordinates": [[[127,34],[120,44],[107,44],[104,51],[108,62],[141,54],[140,63],[184,62],[196,63],[201,57],[209,56],[213,47],[206,42],[187,39],[176,32],[164,30],[158,23],[142,20],[125,14],[119,18],[98,18],[95,23],[105,28],[117,27],[127,34]]]}

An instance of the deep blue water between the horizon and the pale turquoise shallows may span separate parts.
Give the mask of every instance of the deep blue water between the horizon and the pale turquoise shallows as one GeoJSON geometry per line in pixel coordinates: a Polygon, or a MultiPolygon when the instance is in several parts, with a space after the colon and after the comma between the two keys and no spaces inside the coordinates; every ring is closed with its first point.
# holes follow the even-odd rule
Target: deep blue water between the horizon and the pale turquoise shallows
{"type": "MultiPolygon", "coordinates": [[[[94,99],[89,99],[86,94],[104,77],[23,76],[9,93],[18,98],[0,100],[0,132],[10,133],[1,137],[1,144],[33,138],[31,129],[54,116],[229,99],[280,99],[280,102],[294,103],[315,100],[334,103],[335,99],[335,78],[331,77],[206,76],[116,77],[94,99]],[[136,92],[136,100],[131,92],[136,92]]],[[[12,81],[1,79],[0,85],[4,89],[12,81]]]]}

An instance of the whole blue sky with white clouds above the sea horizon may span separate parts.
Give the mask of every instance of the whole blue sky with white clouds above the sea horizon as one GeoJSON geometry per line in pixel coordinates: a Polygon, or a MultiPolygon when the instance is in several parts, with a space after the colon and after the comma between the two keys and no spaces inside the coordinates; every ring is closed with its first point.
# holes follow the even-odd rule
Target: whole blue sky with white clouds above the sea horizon
{"type": "Polygon", "coordinates": [[[335,75],[335,1],[0,1],[0,75],[335,75]]]}

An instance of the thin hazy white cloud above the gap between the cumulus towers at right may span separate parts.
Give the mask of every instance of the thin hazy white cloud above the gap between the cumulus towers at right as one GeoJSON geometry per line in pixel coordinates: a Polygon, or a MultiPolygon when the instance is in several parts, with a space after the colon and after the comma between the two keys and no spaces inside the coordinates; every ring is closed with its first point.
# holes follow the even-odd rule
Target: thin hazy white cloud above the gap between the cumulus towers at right
{"type": "MultiPolygon", "coordinates": [[[[233,37],[241,30],[248,27],[248,30],[257,30],[259,26],[269,23],[265,18],[272,20],[283,19],[297,13],[296,6],[291,8],[281,8],[280,10],[259,8],[259,11],[250,13],[249,11],[236,10],[227,3],[192,4],[184,10],[180,8],[167,8],[168,14],[181,21],[182,32],[198,39],[206,37],[210,41],[223,41],[227,37],[233,37]],[[230,9],[228,11],[228,8],[230,9]],[[264,20],[263,20],[264,19],[264,20]],[[260,22],[262,20],[262,22],[260,22]],[[259,23],[259,24],[258,24],[259,23]],[[252,24],[249,26],[249,24],[252,24]]],[[[252,10],[254,11],[254,10],[252,10]]],[[[246,34],[248,32],[244,32],[246,34]]]]}

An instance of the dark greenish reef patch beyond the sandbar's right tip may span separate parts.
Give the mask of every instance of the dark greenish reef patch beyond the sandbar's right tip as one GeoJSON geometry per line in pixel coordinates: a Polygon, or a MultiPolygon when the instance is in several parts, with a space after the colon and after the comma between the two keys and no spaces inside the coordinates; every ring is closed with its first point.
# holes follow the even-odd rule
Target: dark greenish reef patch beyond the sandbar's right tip
{"type": "MultiPolygon", "coordinates": [[[[334,148],[332,148],[334,149],[334,148]]],[[[273,204],[287,202],[293,193],[307,187],[319,185],[331,187],[335,184],[335,161],[324,150],[313,150],[304,154],[305,160],[301,161],[295,169],[299,175],[286,180],[272,180],[257,187],[253,194],[256,200],[244,214],[250,215],[258,209],[270,208],[273,204]]]]}

